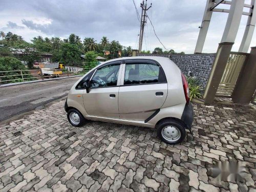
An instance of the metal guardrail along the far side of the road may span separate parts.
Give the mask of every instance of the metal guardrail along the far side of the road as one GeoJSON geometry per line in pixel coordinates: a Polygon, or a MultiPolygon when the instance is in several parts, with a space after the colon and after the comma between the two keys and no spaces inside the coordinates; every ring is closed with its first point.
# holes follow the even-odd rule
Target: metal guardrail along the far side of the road
{"type": "Polygon", "coordinates": [[[58,77],[69,77],[75,75],[84,75],[91,68],[84,68],[83,71],[74,71],[70,72],[66,69],[50,69],[55,74],[49,75],[44,74],[42,69],[36,70],[14,70],[14,71],[0,71],[0,84],[8,84],[13,82],[24,82],[31,80],[44,80],[49,78],[58,78],[58,77]]]}

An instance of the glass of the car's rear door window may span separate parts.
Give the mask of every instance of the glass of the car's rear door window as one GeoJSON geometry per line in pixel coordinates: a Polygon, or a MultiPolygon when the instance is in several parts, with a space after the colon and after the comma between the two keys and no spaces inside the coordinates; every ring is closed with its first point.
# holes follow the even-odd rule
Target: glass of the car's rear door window
{"type": "Polygon", "coordinates": [[[162,75],[161,67],[156,64],[126,63],[124,85],[163,82],[162,75]]]}

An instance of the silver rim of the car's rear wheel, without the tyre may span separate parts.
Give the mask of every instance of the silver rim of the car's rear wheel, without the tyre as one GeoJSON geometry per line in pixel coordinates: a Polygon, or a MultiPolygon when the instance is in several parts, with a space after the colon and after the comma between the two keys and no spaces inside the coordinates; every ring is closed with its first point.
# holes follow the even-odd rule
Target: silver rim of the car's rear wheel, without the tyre
{"type": "Polygon", "coordinates": [[[180,139],[181,133],[177,127],[168,125],[162,129],[162,136],[167,141],[175,142],[180,139]]]}

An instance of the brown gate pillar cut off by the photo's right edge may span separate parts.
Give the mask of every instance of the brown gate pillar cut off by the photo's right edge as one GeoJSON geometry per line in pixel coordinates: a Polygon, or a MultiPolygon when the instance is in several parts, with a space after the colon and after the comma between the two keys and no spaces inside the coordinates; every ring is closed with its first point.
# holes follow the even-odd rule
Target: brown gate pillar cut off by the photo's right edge
{"type": "Polygon", "coordinates": [[[251,48],[250,55],[238,77],[232,94],[232,101],[240,104],[249,104],[256,89],[256,47],[251,48]]]}

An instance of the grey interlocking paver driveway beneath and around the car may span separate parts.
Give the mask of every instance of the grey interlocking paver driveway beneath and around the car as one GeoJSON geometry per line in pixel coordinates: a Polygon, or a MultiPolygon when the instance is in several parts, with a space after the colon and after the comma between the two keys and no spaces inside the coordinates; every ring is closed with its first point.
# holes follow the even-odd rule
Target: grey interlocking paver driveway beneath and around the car
{"type": "Polygon", "coordinates": [[[194,104],[194,136],[166,145],[153,129],[69,124],[60,101],[0,129],[0,191],[255,191],[256,111],[194,104]],[[244,163],[218,181],[216,161],[244,163]]]}

